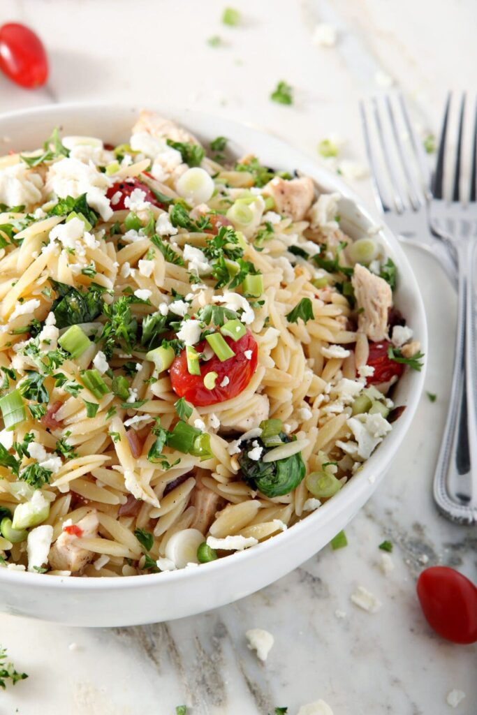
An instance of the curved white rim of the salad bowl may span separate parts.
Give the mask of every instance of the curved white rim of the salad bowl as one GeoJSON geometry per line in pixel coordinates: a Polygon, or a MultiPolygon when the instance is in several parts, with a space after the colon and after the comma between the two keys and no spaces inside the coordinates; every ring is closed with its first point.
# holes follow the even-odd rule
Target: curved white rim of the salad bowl
{"type": "MultiPolygon", "coordinates": [[[[18,121],[24,119],[32,119],[35,116],[48,115],[48,114],[59,114],[64,112],[65,114],[71,112],[89,112],[89,111],[111,111],[119,112],[120,115],[131,114],[134,117],[134,112],[139,112],[142,107],[147,107],[151,111],[157,111],[165,117],[176,117],[177,115],[185,117],[180,119],[181,122],[194,132],[193,121],[194,117],[198,117],[205,122],[210,122],[210,124],[223,123],[230,127],[228,134],[231,134],[230,139],[234,139],[233,131],[246,131],[251,134],[255,134],[256,137],[261,136],[262,139],[266,139],[267,142],[272,142],[275,144],[277,151],[286,150],[292,151],[292,153],[297,158],[298,167],[303,165],[307,167],[304,171],[305,174],[310,174],[313,182],[315,184],[322,184],[327,192],[336,191],[339,192],[341,197],[349,199],[350,202],[355,204],[356,209],[361,217],[376,231],[376,235],[383,238],[385,246],[389,249],[391,248],[393,253],[399,257],[401,266],[401,274],[403,273],[402,268],[405,268],[405,285],[408,291],[412,294],[413,301],[415,302],[415,322],[419,322],[420,332],[419,340],[421,342],[421,348],[423,352],[428,352],[428,329],[426,322],[426,312],[424,310],[423,298],[421,291],[418,287],[418,282],[415,278],[412,267],[408,257],[405,255],[397,237],[393,234],[390,228],[385,225],[384,220],[376,221],[373,213],[368,209],[367,205],[363,200],[356,194],[353,189],[351,189],[348,184],[345,184],[338,175],[333,174],[328,169],[323,167],[318,163],[314,157],[306,154],[300,149],[297,149],[292,144],[287,142],[282,137],[278,137],[272,132],[266,132],[262,128],[256,128],[252,124],[247,124],[245,122],[237,122],[235,119],[229,119],[228,117],[221,117],[220,115],[210,114],[208,112],[202,112],[195,109],[187,109],[185,107],[177,107],[167,104],[167,102],[162,102],[157,106],[154,102],[59,102],[55,104],[41,104],[37,107],[29,107],[26,109],[20,109],[18,111],[11,112],[1,112],[0,113],[0,126],[5,122],[18,121]],[[187,124],[187,117],[191,118],[191,126],[187,124]]],[[[200,132],[199,132],[200,133],[200,132]]],[[[226,134],[224,134],[226,135],[226,134]]],[[[174,581],[182,581],[184,579],[190,579],[194,581],[195,579],[203,576],[207,576],[208,573],[222,570],[227,572],[227,570],[235,569],[237,562],[240,563],[252,562],[256,559],[265,558],[265,555],[270,552],[273,548],[278,548],[280,544],[287,541],[299,541],[300,537],[303,536],[305,531],[313,531],[314,528],[318,526],[324,526],[331,519],[334,518],[335,513],[340,513],[345,511],[346,508],[350,507],[353,502],[359,501],[359,496],[363,492],[369,492],[368,498],[373,493],[375,489],[375,483],[378,483],[380,479],[383,478],[385,472],[388,470],[391,460],[395,456],[395,453],[400,448],[403,441],[405,433],[407,432],[411,421],[415,415],[415,410],[417,409],[419,400],[423,393],[424,380],[426,377],[427,361],[423,365],[423,369],[420,372],[414,372],[410,378],[410,385],[405,395],[406,409],[404,413],[400,416],[400,419],[395,423],[393,431],[387,435],[383,443],[380,443],[378,450],[370,456],[368,460],[363,464],[363,468],[360,469],[353,479],[349,480],[345,486],[334,495],[333,499],[325,502],[319,509],[315,510],[305,516],[297,523],[293,524],[286,531],[275,534],[267,541],[258,543],[253,548],[244,549],[243,551],[230,552],[229,555],[217,559],[216,561],[210,561],[209,563],[197,564],[200,566],[198,568],[179,568],[174,571],[162,571],[161,573],[144,573],[140,576],[121,576],[119,578],[85,578],[84,576],[54,576],[51,577],[46,573],[31,573],[29,571],[15,571],[14,569],[0,568],[0,583],[16,583],[17,586],[36,586],[36,588],[54,588],[63,589],[64,591],[98,591],[98,590],[114,590],[117,589],[129,590],[137,588],[146,588],[147,586],[160,586],[162,583],[172,583],[174,581]],[[381,466],[380,466],[381,464],[381,466]],[[381,471],[380,477],[376,476],[376,473],[381,471]],[[350,488],[350,484],[353,485],[350,488]]],[[[376,484],[377,485],[377,484],[376,484]]],[[[366,501],[366,500],[365,500],[366,501]]],[[[353,511],[353,510],[351,510],[353,511]]],[[[353,515],[354,516],[354,515],[353,515]]]]}

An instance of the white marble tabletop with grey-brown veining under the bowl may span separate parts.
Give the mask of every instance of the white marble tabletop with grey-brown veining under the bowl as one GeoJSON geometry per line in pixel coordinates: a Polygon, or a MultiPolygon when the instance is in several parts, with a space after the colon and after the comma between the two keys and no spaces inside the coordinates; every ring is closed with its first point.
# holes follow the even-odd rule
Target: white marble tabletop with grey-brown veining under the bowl
{"type": "MultiPolygon", "coordinates": [[[[2,0],[0,22],[24,21],[51,55],[48,89],[25,92],[0,77],[0,111],[81,99],[185,104],[252,122],[309,154],[330,132],[363,159],[357,102],[383,92],[390,74],[421,127],[436,129],[446,89],[475,88],[474,0],[234,0],[240,28],[221,26],[225,1],[2,0]],[[318,49],[316,22],[339,30],[318,49]],[[220,49],[206,44],[219,34],[220,49]],[[295,87],[293,107],[272,104],[278,79],[295,87]]],[[[371,204],[368,181],[355,189],[371,204]]],[[[0,641],[29,680],[0,694],[10,715],[255,715],[323,698],[335,715],[441,715],[446,695],[466,692],[475,715],[476,649],[441,641],[423,621],[415,577],[429,564],[457,566],[475,580],[476,531],[437,515],[431,480],[451,369],[455,298],[440,270],[408,250],[423,285],[431,332],[427,388],[387,480],[347,528],[349,546],[325,548],[264,591],[195,618],[87,631],[0,615],[0,641]],[[377,567],[378,544],[395,544],[395,570],[377,567]],[[423,558],[424,557],[424,558],[423,558]],[[361,583],[383,607],[360,611],[361,583]],[[337,618],[335,611],[345,611],[337,618]],[[275,636],[267,663],[247,650],[245,630],[275,636]],[[76,646],[72,646],[76,644],[76,646]]],[[[92,603],[94,608],[94,603],[92,603]]],[[[141,608],[141,603],[137,603],[141,608]]]]}

